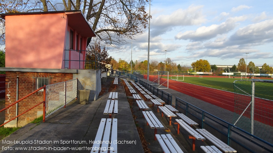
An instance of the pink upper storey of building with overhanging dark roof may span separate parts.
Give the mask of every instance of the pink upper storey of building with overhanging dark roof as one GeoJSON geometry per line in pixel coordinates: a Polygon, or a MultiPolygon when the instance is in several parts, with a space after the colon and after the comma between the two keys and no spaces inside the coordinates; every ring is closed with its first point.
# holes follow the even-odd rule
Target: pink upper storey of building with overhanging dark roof
{"type": "Polygon", "coordinates": [[[6,25],[6,67],[84,68],[84,62],[78,61],[85,60],[85,52],[72,50],[86,50],[87,38],[95,33],[81,11],[11,13],[1,17],[6,25]]]}

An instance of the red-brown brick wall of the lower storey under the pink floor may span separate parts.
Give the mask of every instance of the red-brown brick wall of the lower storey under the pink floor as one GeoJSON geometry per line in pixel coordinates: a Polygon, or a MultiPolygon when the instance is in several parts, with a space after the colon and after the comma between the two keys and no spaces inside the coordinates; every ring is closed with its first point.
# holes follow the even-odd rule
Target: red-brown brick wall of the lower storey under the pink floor
{"type": "MultiPolygon", "coordinates": [[[[39,73],[39,72],[6,72],[6,97],[5,105],[8,106],[16,101],[16,78],[19,77],[19,97],[23,98],[29,93],[36,90],[36,77],[48,77],[50,78],[50,84],[59,83],[67,80],[73,79],[72,73],[39,73]]],[[[20,101],[18,104],[18,114],[31,108],[39,102],[43,101],[43,92],[40,91],[31,95],[29,98],[20,101]]],[[[43,104],[33,108],[31,111],[26,112],[26,114],[18,117],[18,126],[24,126],[33,119],[37,118],[37,115],[43,111],[43,104]]],[[[16,116],[16,105],[10,107],[5,111],[5,120],[16,116]]]]}

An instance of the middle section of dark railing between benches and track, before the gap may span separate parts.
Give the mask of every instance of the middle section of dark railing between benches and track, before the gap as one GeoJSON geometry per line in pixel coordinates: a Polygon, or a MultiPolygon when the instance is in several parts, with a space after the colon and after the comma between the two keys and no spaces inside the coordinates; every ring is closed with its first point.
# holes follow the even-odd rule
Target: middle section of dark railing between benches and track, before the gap
{"type": "Polygon", "coordinates": [[[172,105],[172,94],[169,94],[166,91],[163,91],[143,80],[139,80],[140,85],[145,87],[147,90],[149,90],[151,93],[156,95],[158,98],[161,98],[163,101],[165,101],[168,105],[172,105]]]}

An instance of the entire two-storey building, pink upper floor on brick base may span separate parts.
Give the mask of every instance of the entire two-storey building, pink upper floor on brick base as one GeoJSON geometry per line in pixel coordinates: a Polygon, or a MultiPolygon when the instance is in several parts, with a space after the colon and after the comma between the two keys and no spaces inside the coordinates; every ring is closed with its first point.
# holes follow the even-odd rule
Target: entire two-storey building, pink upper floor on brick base
{"type": "MultiPolygon", "coordinates": [[[[100,70],[83,70],[87,38],[96,35],[81,11],[12,13],[0,17],[5,19],[6,67],[0,70],[6,72],[6,106],[16,101],[16,82],[20,99],[44,84],[75,78],[91,90],[89,100],[96,100],[101,91],[100,70]]],[[[38,101],[43,101],[40,93],[19,102],[18,113],[38,101]]],[[[12,106],[5,111],[6,121],[16,116],[15,110],[12,106]]],[[[39,105],[18,117],[18,126],[26,125],[41,112],[39,105]]],[[[5,126],[15,125],[12,121],[5,126]]]]}

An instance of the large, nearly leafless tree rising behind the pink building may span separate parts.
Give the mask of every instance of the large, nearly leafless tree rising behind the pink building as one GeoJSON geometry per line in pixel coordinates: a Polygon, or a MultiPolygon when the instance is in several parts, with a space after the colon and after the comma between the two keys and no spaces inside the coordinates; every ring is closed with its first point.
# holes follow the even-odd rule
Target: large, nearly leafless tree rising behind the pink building
{"type": "MultiPolygon", "coordinates": [[[[116,48],[126,44],[126,39],[144,32],[149,15],[145,12],[147,0],[9,0],[6,8],[16,12],[45,12],[60,10],[81,10],[98,38],[116,48]]],[[[0,8],[2,5],[0,6],[0,8]]],[[[0,9],[0,13],[7,13],[0,9]]],[[[4,35],[4,34],[3,34],[4,35]]],[[[2,36],[2,39],[5,36],[2,36]]],[[[91,38],[88,38],[88,43],[91,38]]]]}

